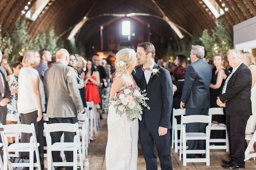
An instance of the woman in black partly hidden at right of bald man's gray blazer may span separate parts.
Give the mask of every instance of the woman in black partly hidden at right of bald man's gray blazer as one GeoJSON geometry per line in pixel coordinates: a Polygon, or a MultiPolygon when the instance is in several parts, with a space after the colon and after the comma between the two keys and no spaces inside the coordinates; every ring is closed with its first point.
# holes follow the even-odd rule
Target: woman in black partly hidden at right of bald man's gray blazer
{"type": "Polygon", "coordinates": [[[87,105],[86,105],[86,100],[85,100],[84,79],[81,79],[81,77],[79,77],[78,71],[76,70],[76,56],[75,56],[75,54],[70,54],[70,62],[68,63],[68,66],[75,69],[76,79],[77,79],[77,83],[78,83],[80,96],[81,96],[81,99],[82,99],[82,102],[83,102],[83,106],[86,108],[87,105]]]}

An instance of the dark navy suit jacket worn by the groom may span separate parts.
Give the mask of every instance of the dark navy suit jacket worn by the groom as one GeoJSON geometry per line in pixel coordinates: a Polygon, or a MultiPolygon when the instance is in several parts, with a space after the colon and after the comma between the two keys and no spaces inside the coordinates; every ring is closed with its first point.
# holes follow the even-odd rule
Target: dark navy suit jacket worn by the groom
{"type": "Polygon", "coordinates": [[[154,64],[154,68],[160,68],[157,75],[151,74],[148,85],[146,83],[144,72],[141,68],[137,69],[134,79],[141,90],[146,89],[150,110],[144,108],[142,120],[139,121],[139,130],[143,130],[146,125],[148,130],[157,132],[158,127],[172,128],[171,112],[172,112],[172,79],[169,71],[165,68],[154,64]]]}

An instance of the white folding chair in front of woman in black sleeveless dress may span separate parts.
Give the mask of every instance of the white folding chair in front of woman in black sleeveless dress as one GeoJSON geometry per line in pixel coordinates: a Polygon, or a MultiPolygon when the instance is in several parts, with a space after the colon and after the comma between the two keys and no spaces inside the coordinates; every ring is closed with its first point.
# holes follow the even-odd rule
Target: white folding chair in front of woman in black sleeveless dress
{"type": "MultiPolygon", "coordinates": [[[[223,108],[209,108],[209,115],[224,115],[223,108]]],[[[225,130],[226,139],[210,139],[211,142],[215,143],[225,143],[225,145],[210,145],[210,149],[226,149],[229,152],[229,141],[227,136],[227,126],[224,123],[219,123],[218,125],[211,125],[211,130],[225,130]]]]}

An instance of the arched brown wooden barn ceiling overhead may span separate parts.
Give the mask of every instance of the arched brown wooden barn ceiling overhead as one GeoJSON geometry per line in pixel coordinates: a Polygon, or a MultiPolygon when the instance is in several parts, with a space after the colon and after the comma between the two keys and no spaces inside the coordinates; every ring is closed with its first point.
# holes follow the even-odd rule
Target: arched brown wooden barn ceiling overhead
{"type": "MultiPolygon", "coordinates": [[[[0,0],[0,23],[2,33],[11,31],[24,6],[36,0],[0,0]]],[[[220,18],[228,24],[232,33],[232,26],[256,16],[256,0],[210,0],[215,1],[225,10],[220,18]],[[225,6],[222,6],[222,4],[225,6]]],[[[29,9],[28,9],[29,10],[29,9]]],[[[28,11],[26,10],[26,11],[28,11]]],[[[34,38],[42,29],[46,32],[55,28],[55,33],[67,38],[71,30],[83,20],[88,21],[81,27],[76,38],[84,43],[99,32],[99,27],[108,26],[121,17],[101,16],[101,14],[129,14],[145,13],[163,18],[166,16],[172,23],[180,28],[185,39],[191,35],[201,35],[204,29],[215,26],[215,17],[202,0],[49,0],[41,14],[35,21],[29,22],[29,34],[34,38]],[[157,5],[156,5],[157,4],[157,5]]],[[[157,17],[134,16],[133,20],[150,27],[161,36],[177,37],[167,23],[157,17]]]]}

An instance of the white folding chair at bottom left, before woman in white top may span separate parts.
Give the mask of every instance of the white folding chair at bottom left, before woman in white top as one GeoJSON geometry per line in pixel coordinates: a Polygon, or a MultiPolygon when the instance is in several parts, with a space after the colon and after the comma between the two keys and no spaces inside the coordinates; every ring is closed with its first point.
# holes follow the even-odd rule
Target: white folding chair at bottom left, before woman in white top
{"type": "Polygon", "coordinates": [[[1,125],[3,127],[3,166],[4,170],[7,170],[8,166],[8,156],[9,152],[29,152],[29,163],[12,163],[12,167],[29,167],[29,170],[33,170],[34,167],[37,167],[38,170],[41,170],[40,158],[39,158],[39,151],[37,143],[37,139],[35,136],[35,126],[32,123],[31,125],[25,124],[9,124],[9,125],[1,125]],[[8,133],[32,133],[29,142],[24,143],[13,143],[7,146],[7,137],[6,134],[8,133]],[[34,163],[34,152],[36,157],[36,163],[34,163]]]}

